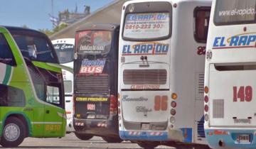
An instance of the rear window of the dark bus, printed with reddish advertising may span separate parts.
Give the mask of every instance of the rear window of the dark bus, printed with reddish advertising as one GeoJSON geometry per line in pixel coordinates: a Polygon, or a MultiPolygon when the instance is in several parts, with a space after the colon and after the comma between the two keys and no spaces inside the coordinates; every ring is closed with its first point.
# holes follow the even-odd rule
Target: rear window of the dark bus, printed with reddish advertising
{"type": "Polygon", "coordinates": [[[112,33],[110,31],[81,31],[77,33],[77,39],[78,53],[107,54],[111,48],[112,33]]]}

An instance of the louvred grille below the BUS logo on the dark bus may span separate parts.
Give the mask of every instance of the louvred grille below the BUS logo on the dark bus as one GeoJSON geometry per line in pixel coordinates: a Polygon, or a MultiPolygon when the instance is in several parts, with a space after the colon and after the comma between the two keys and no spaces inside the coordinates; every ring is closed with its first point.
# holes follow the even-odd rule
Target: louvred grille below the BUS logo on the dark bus
{"type": "Polygon", "coordinates": [[[76,94],[109,94],[109,75],[78,75],[75,78],[76,94]]]}

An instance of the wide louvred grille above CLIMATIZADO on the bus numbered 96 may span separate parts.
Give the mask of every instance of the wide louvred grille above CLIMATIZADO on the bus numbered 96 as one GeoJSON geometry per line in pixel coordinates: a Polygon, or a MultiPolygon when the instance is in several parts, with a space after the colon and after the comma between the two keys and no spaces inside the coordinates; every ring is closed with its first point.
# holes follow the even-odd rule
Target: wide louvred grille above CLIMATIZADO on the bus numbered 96
{"type": "Polygon", "coordinates": [[[166,70],[124,70],[124,84],[166,84],[166,70]]]}

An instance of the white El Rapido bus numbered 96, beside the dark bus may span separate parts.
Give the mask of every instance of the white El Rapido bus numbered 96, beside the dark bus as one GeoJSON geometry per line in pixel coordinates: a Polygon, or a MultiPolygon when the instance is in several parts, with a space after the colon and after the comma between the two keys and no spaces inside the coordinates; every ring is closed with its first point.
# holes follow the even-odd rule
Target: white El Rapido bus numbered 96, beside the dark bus
{"type": "Polygon", "coordinates": [[[206,143],[203,77],[210,0],[136,0],[122,8],[119,136],[142,147],[206,143]]]}

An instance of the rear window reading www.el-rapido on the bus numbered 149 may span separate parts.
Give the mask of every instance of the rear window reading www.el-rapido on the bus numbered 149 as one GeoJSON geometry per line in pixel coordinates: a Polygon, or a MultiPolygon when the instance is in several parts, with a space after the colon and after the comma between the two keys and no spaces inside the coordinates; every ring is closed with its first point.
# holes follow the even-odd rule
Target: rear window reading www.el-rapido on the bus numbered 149
{"type": "Polygon", "coordinates": [[[215,25],[256,23],[256,0],[216,0],[215,25]]]}

